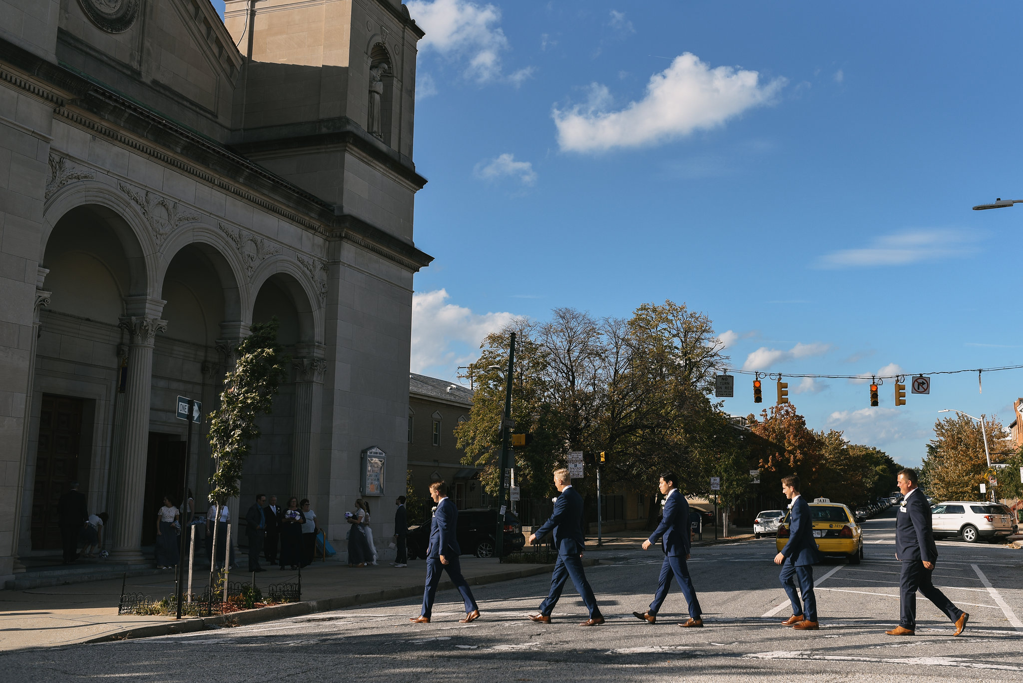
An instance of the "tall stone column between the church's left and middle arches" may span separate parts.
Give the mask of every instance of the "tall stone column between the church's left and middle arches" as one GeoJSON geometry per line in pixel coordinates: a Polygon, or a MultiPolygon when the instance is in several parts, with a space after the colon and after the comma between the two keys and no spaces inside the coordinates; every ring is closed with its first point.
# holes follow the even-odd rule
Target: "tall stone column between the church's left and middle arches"
{"type": "MultiPolygon", "coordinates": [[[[160,302],[163,304],[163,302],[160,302]]],[[[162,309],[163,306],[161,305],[162,309]]],[[[147,311],[148,312],[148,311],[147,311]]],[[[155,315],[121,318],[128,331],[128,386],[125,390],[124,436],[114,484],[114,530],[110,559],[142,561],[142,506],[145,503],[145,468],[149,450],[149,400],[152,391],[152,347],[158,332],[167,332],[167,321],[155,315]]]]}

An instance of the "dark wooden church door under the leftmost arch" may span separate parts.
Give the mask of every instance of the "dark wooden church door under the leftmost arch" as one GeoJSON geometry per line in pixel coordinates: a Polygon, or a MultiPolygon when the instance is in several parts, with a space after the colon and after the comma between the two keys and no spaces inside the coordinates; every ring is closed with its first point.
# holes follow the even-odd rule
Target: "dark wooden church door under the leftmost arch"
{"type": "Polygon", "coordinates": [[[81,398],[43,394],[32,498],[33,550],[60,548],[57,502],[78,479],[84,404],[81,398]]]}

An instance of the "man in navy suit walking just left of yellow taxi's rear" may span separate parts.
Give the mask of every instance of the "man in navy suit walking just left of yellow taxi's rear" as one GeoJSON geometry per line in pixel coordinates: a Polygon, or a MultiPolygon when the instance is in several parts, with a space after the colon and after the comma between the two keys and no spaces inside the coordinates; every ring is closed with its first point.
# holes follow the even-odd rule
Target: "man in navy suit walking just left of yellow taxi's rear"
{"type": "Polygon", "coordinates": [[[813,540],[810,506],[799,495],[799,477],[795,474],[782,478],[782,493],[792,500],[789,504],[789,509],[792,510],[789,542],[774,556],[774,564],[782,565],[782,573],[779,574],[782,587],[792,601],[792,616],[782,622],[782,625],[800,631],[815,631],[820,625],[817,623],[817,598],[813,594],[813,565],[820,561],[820,551],[813,540]],[[794,578],[799,582],[799,592],[803,596],[802,606],[799,604],[794,578]]]}

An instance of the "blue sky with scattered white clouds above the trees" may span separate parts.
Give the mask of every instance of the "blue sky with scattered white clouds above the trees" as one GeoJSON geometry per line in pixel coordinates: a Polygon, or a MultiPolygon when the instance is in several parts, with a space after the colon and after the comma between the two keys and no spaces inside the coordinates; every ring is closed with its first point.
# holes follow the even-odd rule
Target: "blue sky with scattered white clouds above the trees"
{"type": "MultiPolygon", "coordinates": [[[[555,306],[703,310],[735,368],[1016,365],[1019,5],[417,0],[413,370],[555,306]]],[[[888,374],[888,373],[885,373],[888,374]]],[[[790,394],[917,465],[936,411],[1012,421],[1023,371],[790,394]]],[[[751,378],[725,409],[746,415],[751,378]]],[[[765,397],[773,396],[767,383],[765,397]]]]}

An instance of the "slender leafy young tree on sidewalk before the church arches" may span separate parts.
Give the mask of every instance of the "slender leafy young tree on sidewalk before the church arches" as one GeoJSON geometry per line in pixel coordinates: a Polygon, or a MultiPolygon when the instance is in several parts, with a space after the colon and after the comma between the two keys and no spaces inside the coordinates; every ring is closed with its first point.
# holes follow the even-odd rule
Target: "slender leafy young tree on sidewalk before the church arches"
{"type": "MultiPolygon", "coordinates": [[[[217,506],[213,525],[213,561],[210,563],[210,587],[213,589],[217,559],[217,530],[224,501],[238,495],[241,467],[253,439],[260,435],[256,419],[270,413],[277,387],[286,373],[288,358],[277,343],[277,318],[259,323],[237,346],[238,359],[224,377],[220,407],[210,415],[210,450],[217,470],[210,477],[210,502],[217,506]]],[[[237,511],[235,511],[237,512],[237,511]]],[[[224,563],[230,562],[230,549],[224,549],[224,563]]],[[[212,595],[211,595],[212,599],[212,595]]]]}

